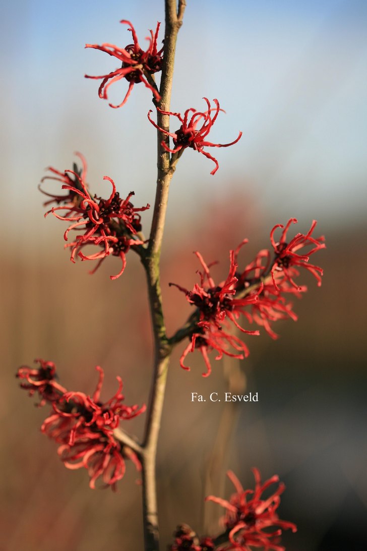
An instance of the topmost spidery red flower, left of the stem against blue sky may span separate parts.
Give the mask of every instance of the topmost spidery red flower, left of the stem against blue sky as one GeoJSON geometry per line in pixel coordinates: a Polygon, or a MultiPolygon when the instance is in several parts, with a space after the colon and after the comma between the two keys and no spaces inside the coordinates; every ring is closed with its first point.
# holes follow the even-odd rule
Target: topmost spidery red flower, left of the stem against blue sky
{"type": "Polygon", "coordinates": [[[119,105],[109,104],[109,106],[114,107],[115,109],[117,107],[122,107],[126,103],[134,84],[138,84],[139,82],[143,82],[146,88],[151,90],[156,100],[159,101],[161,96],[158,94],[157,88],[148,82],[146,74],[151,75],[161,71],[162,69],[163,48],[159,51],[157,50],[157,39],[160,23],[157,23],[155,34],[153,34],[153,31],[151,30],[150,37],[147,37],[149,46],[146,51],[141,49],[132,23],[130,23],[130,21],[126,21],[125,19],[120,21],[120,23],[130,26],[128,30],[131,31],[133,35],[134,44],[128,44],[128,46],[125,46],[124,48],[119,48],[113,44],[102,44],[101,46],[98,46],[97,44],[86,44],[85,47],[95,48],[95,50],[101,50],[102,52],[108,53],[110,56],[116,57],[117,60],[122,63],[122,67],[116,69],[116,71],[112,71],[108,74],[102,74],[98,77],[91,77],[86,74],[85,78],[103,79],[100,88],[98,89],[98,95],[102,99],[107,99],[107,90],[111,84],[122,78],[125,78],[128,81],[129,88],[123,101],[119,105]]]}

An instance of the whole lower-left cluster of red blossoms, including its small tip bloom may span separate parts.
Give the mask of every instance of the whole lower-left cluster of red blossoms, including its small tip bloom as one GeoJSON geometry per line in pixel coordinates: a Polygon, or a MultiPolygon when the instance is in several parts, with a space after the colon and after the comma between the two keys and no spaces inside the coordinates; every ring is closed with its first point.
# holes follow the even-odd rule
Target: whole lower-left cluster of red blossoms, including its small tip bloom
{"type": "Polygon", "coordinates": [[[122,394],[122,380],[117,377],[117,392],[107,402],[101,402],[100,393],[103,370],[97,366],[99,380],[92,396],[83,392],[68,392],[55,380],[56,367],[52,361],[36,360],[38,368],[22,366],[17,377],[20,386],[35,392],[41,398],[40,406],[46,402],[52,406],[52,413],[42,424],[41,431],[57,444],[58,455],[69,469],[87,469],[90,488],[102,478],[105,487],[116,489],[116,482],[125,473],[125,459],[134,462],[141,469],[139,458],[128,447],[120,444],[113,431],[121,420],[133,419],[145,411],[145,405],[125,406],[122,394]]]}

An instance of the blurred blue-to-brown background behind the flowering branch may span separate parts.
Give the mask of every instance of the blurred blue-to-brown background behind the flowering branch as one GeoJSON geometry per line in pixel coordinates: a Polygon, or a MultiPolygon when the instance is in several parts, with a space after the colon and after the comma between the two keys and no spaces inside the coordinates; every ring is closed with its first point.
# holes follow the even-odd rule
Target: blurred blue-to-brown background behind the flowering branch
{"type": "MultiPolygon", "coordinates": [[[[125,107],[110,109],[84,74],[116,64],[84,45],[129,44],[122,18],[144,42],[147,29],[164,20],[163,1],[15,0],[1,10],[0,549],[141,549],[133,466],[117,494],[90,490],[87,473],[67,471],[40,433],[48,408],[34,408],[14,374],[42,357],[56,362],[69,390],[91,393],[99,364],[106,373],[102,397],[114,393],[121,375],[127,404],[147,400],[151,333],[138,258],[129,253],[116,282],[108,277],[119,270],[116,258],[94,276],[88,263],[70,263],[65,226],[43,218],[37,184],[49,165],[72,168],[78,150],[97,195],[109,191],[102,182],[108,175],[122,195],[135,191],[135,206],[154,204],[149,93],[136,85],[125,107]]],[[[177,166],[162,255],[169,334],[190,314],[168,283],[193,286],[192,251],[220,261],[213,269],[220,281],[229,249],[248,237],[241,257],[248,263],[269,246],[272,226],[290,217],[303,233],[317,219],[327,249],[315,260],[325,271],[321,289],[304,278],[309,292],[294,306],[299,321],[280,323],[278,341],[249,337],[250,358],[240,365],[213,360],[209,379],[201,377],[200,354],[190,355],[185,372],[178,365],[185,343],[175,351],[158,456],[165,544],[179,522],[200,533],[219,531],[222,511],[212,503],[204,509],[205,495],[229,497],[228,468],[250,488],[257,466],[264,478],[277,473],[287,485],[280,516],[298,525],[297,534],[284,536],[287,551],[367,549],[366,24],[363,0],[188,2],[172,109],[201,110],[202,96],[217,98],[227,114],[218,117],[212,141],[231,142],[239,130],[243,137],[215,150],[215,176],[211,161],[191,150],[177,166]],[[224,392],[231,381],[241,387],[244,377],[258,403],[236,409],[190,402],[191,392],[224,392]]],[[[120,102],[126,89],[115,84],[110,99],[120,102]]],[[[146,234],[150,217],[143,215],[146,234]]],[[[127,430],[141,435],[143,417],[127,430]]]]}

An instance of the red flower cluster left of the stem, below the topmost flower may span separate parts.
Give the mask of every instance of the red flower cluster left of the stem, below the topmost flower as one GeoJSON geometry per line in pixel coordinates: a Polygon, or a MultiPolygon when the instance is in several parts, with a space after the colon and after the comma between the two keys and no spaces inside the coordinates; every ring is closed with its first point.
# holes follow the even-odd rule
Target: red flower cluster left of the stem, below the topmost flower
{"type": "MultiPolygon", "coordinates": [[[[67,195],[51,195],[50,201],[45,204],[50,204],[53,201],[56,203],[65,203],[64,206],[52,207],[47,214],[53,214],[59,220],[72,222],[72,225],[64,233],[65,241],[68,241],[68,233],[76,228],[83,228],[84,234],[76,236],[75,241],[65,245],[71,247],[72,253],[70,260],[75,262],[75,256],[78,255],[81,260],[98,260],[97,266],[90,272],[94,273],[101,265],[103,260],[109,255],[118,256],[122,261],[122,268],[116,276],[110,276],[111,279],[117,279],[124,271],[126,266],[125,255],[130,247],[143,245],[138,233],[141,231],[140,215],[136,214],[140,211],[149,208],[135,208],[130,202],[130,198],[134,192],[130,192],[125,199],[120,198],[116,191],[114,181],[108,176],[104,176],[103,180],[108,180],[112,185],[112,192],[108,199],[92,197],[88,191],[85,182],[86,162],[82,155],[83,170],[78,171],[74,165],[74,170],[66,170],[64,174],[52,167],[50,170],[57,176],[46,176],[46,179],[52,179],[62,182],[62,190],[67,190],[67,195]],[[59,210],[65,210],[65,214],[58,214],[59,210]],[[87,245],[97,245],[96,253],[86,255],[83,249],[87,245]]],[[[45,180],[45,178],[43,179],[45,180]]],[[[45,193],[41,190],[42,193],[45,193]]]]}

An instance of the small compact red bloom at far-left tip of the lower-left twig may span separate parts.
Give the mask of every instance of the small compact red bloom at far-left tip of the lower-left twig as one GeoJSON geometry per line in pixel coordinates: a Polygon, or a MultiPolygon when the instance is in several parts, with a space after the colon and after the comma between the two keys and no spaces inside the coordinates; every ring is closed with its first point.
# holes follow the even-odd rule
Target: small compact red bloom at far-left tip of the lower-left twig
{"type": "Polygon", "coordinates": [[[39,405],[44,406],[46,402],[57,401],[66,390],[54,380],[56,366],[52,361],[37,359],[35,363],[39,363],[40,367],[32,369],[23,365],[18,369],[16,376],[26,381],[21,382],[20,387],[29,390],[30,396],[33,396],[35,392],[39,393],[42,398],[39,405]]]}

